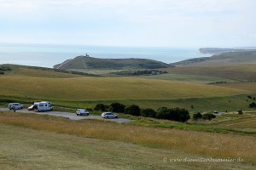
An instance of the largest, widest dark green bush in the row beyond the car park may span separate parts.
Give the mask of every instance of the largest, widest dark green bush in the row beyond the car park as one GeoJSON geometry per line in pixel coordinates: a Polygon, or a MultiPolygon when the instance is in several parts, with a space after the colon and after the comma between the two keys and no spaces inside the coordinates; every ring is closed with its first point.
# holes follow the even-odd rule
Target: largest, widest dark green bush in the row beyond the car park
{"type": "Polygon", "coordinates": [[[190,119],[189,111],[178,107],[172,109],[162,107],[158,111],[159,112],[155,116],[158,119],[167,119],[177,122],[186,122],[190,119]]]}

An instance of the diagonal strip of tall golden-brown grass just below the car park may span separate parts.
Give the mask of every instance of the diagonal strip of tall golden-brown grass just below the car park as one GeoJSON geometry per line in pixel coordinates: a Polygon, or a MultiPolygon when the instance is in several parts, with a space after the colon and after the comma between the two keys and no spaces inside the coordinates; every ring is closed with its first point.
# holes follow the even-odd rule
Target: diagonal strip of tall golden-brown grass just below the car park
{"type": "Polygon", "coordinates": [[[0,112],[0,122],[56,133],[183,150],[207,156],[241,157],[247,162],[256,161],[256,138],[254,136],[138,127],[92,120],[74,122],[64,118],[22,115],[3,111],[0,112]]]}

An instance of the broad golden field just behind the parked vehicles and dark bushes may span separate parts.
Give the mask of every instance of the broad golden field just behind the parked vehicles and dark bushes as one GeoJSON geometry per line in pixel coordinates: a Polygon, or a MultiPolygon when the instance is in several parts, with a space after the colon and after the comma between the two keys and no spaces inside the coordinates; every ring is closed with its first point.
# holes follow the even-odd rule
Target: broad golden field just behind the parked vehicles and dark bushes
{"type": "Polygon", "coordinates": [[[0,95],[35,99],[182,99],[247,94],[248,91],[192,82],[132,77],[0,77],[0,95]]]}

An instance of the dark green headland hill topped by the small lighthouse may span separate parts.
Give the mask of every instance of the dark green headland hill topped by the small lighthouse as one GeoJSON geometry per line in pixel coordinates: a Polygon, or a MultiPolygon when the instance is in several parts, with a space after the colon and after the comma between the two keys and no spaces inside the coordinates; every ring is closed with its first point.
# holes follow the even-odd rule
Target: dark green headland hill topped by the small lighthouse
{"type": "Polygon", "coordinates": [[[153,59],[100,59],[88,55],[68,59],[61,64],[54,65],[55,69],[159,69],[170,65],[153,59]]]}

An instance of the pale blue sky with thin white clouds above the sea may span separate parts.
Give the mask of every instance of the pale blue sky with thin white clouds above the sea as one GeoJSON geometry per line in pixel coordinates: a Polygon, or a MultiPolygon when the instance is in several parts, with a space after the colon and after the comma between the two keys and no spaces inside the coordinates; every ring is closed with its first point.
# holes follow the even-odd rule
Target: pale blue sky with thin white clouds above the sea
{"type": "Polygon", "coordinates": [[[0,42],[256,46],[255,0],[0,0],[0,42]]]}

